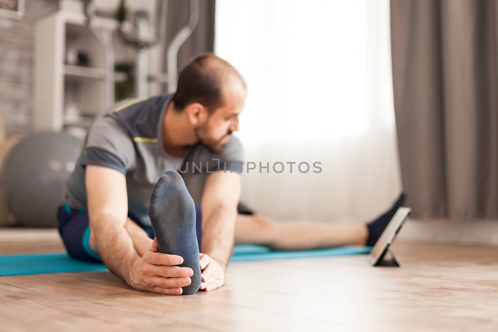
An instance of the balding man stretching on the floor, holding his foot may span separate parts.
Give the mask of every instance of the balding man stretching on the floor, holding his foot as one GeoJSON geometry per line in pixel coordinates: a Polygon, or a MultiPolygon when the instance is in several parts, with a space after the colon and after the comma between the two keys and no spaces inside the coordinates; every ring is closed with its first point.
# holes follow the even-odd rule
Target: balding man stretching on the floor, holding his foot
{"type": "Polygon", "coordinates": [[[179,295],[224,285],[234,240],[277,249],[373,245],[403,195],[375,221],[353,226],[238,214],[243,155],[231,134],[246,94],[237,70],[207,54],[182,70],[176,93],[96,118],[58,211],[68,253],[102,260],[137,290],[179,295]],[[199,207],[184,182],[201,174],[199,207]]]}

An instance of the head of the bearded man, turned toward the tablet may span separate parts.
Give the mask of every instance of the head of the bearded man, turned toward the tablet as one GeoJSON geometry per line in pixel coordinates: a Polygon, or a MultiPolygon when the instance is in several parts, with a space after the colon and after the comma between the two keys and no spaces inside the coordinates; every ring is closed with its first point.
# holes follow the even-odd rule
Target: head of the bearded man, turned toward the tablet
{"type": "Polygon", "coordinates": [[[220,152],[230,134],[239,130],[246,95],[246,82],[239,72],[214,54],[205,54],[180,72],[173,107],[186,112],[201,143],[220,152]]]}

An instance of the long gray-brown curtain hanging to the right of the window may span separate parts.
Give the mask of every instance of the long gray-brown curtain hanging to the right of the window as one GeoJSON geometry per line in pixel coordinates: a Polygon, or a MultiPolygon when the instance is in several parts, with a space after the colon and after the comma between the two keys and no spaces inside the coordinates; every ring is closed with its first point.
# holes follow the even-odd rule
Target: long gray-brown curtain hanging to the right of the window
{"type": "Polygon", "coordinates": [[[414,217],[498,217],[496,0],[391,0],[394,108],[414,217]]]}

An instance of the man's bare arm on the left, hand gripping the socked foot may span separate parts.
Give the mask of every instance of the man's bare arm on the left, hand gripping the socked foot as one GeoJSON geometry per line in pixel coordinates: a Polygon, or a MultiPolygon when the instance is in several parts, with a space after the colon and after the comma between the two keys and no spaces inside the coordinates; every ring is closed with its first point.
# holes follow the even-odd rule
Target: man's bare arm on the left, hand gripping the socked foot
{"type": "Polygon", "coordinates": [[[135,289],[181,294],[180,287],[190,284],[193,275],[190,268],[174,266],[183,262],[182,257],[159,253],[156,241],[142,257],[133,247],[125,228],[128,203],[124,175],[88,165],[86,188],[93,245],[109,270],[135,289]]]}

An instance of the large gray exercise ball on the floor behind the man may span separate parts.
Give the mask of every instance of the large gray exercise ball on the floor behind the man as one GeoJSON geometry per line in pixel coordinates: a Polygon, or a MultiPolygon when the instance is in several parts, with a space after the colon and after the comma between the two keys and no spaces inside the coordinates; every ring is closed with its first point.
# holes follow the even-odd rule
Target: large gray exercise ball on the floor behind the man
{"type": "Polygon", "coordinates": [[[82,141],[65,133],[36,133],[23,138],[5,159],[0,188],[16,224],[56,227],[66,181],[82,141]]]}

